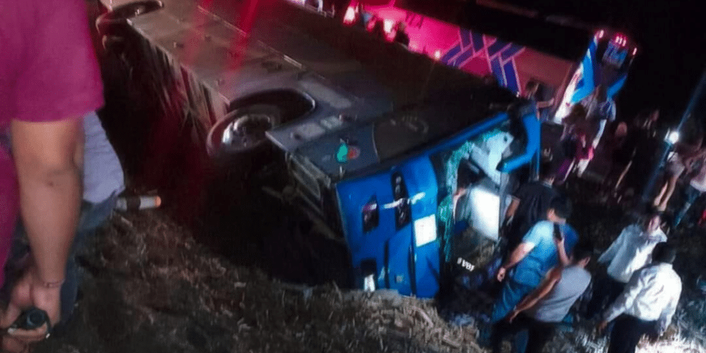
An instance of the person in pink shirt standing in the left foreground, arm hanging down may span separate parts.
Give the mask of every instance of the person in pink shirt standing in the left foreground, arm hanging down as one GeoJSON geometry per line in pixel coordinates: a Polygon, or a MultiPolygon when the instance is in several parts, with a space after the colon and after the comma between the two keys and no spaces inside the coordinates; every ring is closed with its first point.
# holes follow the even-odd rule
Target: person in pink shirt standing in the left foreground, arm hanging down
{"type": "MultiPolygon", "coordinates": [[[[10,131],[13,146],[12,155],[0,146],[0,263],[7,260],[18,215],[32,248],[0,328],[30,306],[56,323],[81,199],[81,117],[103,104],[85,3],[2,0],[0,43],[0,129],[10,131]]],[[[46,326],[11,329],[3,347],[22,351],[46,334],[46,326]]]]}

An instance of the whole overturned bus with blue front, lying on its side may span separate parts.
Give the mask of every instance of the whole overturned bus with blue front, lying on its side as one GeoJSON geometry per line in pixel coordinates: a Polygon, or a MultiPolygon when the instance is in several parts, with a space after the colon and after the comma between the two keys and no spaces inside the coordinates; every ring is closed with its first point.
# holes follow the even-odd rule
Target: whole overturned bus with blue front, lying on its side
{"type": "Polygon", "coordinates": [[[455,234],[497,239],[508,192],[537,172],[539,120],[504,88],[286,2],[246,30],[240,1],[155,2],[105,4],[97,23],[172,112],[149,130],[282,157],[361,288],[433,297],[455,234]]]}

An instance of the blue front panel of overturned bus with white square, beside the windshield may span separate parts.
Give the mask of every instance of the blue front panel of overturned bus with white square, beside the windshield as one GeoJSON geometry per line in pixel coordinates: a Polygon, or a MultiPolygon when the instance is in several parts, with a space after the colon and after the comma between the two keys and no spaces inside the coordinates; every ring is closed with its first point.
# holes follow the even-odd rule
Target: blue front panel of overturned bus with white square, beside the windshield
{"type": "Polygon", "coordinates": [[[344,181],[337,191],[359,285],[375,263],[377,288],[433,297],[440,265],[436,179],[429,159],[344,181]]]}

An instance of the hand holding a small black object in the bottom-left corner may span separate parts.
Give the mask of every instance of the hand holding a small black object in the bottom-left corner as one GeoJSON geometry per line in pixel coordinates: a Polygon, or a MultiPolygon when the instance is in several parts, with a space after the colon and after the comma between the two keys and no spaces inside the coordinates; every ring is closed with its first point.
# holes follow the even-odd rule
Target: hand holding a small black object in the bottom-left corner
{"type": "Polygon", "coordinates": [[[7,310],[0,316],[0,327],[7,329],[2,337],[2,347],[7,352],[25,352],[28,345],[49,337],[49,325],[46,323],[35,330],[9,328],[23,310],[32,306],[42,309],[49,316],[49,323],[54,325],[61,318],[61,285],[46,285],[39,277],[35,265],[30,265],[12,289],[7,310]]]}

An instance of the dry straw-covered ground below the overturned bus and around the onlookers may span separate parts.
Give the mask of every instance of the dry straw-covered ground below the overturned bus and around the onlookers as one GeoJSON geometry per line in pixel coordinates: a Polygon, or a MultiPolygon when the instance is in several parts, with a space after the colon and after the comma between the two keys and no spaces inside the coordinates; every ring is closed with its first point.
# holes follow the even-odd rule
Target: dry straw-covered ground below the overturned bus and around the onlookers
{"type": "MultiPolygon", "coordinates": [[[[602,247],[629,222],[605,203],[577,208],[575,227],[602,247]]],[[[690,285],[702,235],[670,234],[681,248],[681,306],[669,334],[638,352],[705,352],[706,302],[690,285]]],[[[431,299],[282,282],[195,239],[164,210],[116,213],[80,258],[83,297],[68,330],[35,352],[486,352],[476,342],[480,321],[445,321],[431,299]]],[[[590,323],[574,327],[546,352],[604,352],[590,323]]]]}

